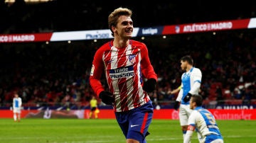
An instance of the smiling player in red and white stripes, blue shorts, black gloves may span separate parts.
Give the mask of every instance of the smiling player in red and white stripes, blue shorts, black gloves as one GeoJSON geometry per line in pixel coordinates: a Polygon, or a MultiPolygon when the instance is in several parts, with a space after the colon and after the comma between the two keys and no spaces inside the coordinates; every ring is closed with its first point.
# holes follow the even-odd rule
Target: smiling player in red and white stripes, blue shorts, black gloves
{"type": "Polygon", "coordinates": [[[114,39],[95,53],[90,85],[103,103],[113,106],[126,142],[145,143],[153,115],[149,92],[156,88],[157,75],[146,45],[130,40],[134,30],[131,16],[132,11],[122,7],[110,13],[108,23],[114,39]],[[109,90],[100,82],[102,71],[109,90]]]}

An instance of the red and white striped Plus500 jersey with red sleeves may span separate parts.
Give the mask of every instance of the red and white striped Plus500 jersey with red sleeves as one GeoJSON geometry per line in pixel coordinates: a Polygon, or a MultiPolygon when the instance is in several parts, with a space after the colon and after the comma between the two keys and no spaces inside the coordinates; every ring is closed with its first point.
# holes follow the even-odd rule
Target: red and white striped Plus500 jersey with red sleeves
{"type": "Polygon", "coordinates": [[[143,78],[157,81],[157,75],[143,42],[130,40],[127,47],[117,48],[111,40],[97,50],[90,73],[90,86],[97,96],[105,90],[100,82],[102,71],[114,94],[115,112],[132,110],[149,102],[148,93],[142,89],[143,78]]]}

